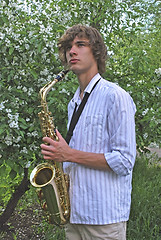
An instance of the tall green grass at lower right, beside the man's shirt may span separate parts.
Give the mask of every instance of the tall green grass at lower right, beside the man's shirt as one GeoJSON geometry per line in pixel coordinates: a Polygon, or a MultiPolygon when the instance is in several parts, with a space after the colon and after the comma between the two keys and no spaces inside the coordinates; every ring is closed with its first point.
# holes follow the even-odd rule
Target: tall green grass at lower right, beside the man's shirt
{"type": "Polygon", "coordinates": [[[142,156],[137,159],[134,167],[128,240],[160,239],[161,166],[154,164],[150,166],[149,160],[142,156]]]}

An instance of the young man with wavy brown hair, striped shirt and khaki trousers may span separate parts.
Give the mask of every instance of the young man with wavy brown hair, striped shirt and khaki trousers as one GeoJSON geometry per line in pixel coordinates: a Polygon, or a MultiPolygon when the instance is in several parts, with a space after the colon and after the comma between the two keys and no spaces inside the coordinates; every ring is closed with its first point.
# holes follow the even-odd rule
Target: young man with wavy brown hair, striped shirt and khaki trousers
{"type": "Polygon", "coordinates": [[[90,93],[69,145],[58,131],[58,142],[45,137],[48,145],[41,145],[44,159],[63,162],[70,177],[67,239],[125,240],[136,154],[135,104],[127,92],[101,77],[107,52],[96,29],[75,25],[58,46],[60,59],[79,81],[68,105],[68,127],[75,106],[77,110],[90,93]]]}

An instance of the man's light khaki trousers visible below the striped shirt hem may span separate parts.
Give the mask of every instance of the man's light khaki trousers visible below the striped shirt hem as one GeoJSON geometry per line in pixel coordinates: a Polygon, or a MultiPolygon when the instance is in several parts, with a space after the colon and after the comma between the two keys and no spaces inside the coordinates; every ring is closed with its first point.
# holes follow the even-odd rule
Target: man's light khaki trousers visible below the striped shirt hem
{"type": "Polygon", "coordinates": [[[67,240],[126,240],[126,222],[107,225],[67,224],[67,240]]]}

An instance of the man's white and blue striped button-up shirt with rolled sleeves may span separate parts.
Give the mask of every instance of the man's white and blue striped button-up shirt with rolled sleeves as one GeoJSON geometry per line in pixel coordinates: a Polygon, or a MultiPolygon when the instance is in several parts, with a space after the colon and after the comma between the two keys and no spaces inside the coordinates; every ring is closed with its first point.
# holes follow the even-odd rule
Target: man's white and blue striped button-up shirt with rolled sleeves
{"type": "MultiPolygon", "coordinates": [[[[90,93],[100,77],[95,75],[85,92],[90,93]]],[[[68,127],[75,103],[80,105],[79,94],[80,88],[68,105],[68,127]]],[[[102,225],[128,220],[136,155],[135,112],[130,95],[101,78],[73,131],[70,147],[103,153],[113,171],[64,163],[70,177],[71,223],[102,225]]]]}

